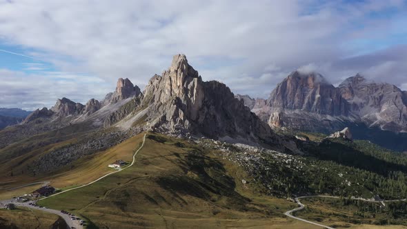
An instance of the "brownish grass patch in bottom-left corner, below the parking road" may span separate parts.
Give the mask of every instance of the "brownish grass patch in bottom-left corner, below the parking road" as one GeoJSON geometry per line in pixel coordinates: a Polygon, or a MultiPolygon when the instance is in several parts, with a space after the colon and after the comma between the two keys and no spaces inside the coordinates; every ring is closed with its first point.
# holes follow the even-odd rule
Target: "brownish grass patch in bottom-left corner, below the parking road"
{"type": "Polygon", "coordinates": [[[30,208],[0,209],[0,228],[48,229],[57,224],[57,220],[59,220],[57,215],[41,210],[32,210],[30,208]]]}

